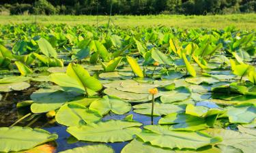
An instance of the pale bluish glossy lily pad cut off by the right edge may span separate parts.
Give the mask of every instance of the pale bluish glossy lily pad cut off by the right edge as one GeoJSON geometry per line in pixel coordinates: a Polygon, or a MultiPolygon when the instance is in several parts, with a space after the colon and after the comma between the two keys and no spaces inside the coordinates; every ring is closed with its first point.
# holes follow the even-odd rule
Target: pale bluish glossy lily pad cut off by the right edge
{"type": "Polygon", "coordinates": [[[250,103],[234,105],[227,108],[229,122],[248,124],[256,118],[256,107],[250,103]]]}

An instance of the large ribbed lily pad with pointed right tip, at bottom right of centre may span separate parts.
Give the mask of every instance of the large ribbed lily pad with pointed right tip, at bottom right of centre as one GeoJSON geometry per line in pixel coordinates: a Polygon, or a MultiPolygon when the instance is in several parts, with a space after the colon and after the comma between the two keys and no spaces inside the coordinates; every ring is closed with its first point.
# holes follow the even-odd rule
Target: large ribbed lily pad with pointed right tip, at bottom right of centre
{"type": "Polygon", "coordinates": [[[221,137],[212,137],[199,131],[171,131],[168,126],[148,125],[144,129],[137,136],[161,148],[197,149],[221,141],[221,137]]]}

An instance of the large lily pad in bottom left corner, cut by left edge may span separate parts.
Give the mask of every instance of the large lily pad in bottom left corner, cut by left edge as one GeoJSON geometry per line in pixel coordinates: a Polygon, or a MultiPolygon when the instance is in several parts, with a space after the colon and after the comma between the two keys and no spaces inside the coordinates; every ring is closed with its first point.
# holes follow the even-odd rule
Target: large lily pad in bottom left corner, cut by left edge
{"type": "Polygon", "coordinates": [[[58,136],[42,129],[14,126],[0,128],[0,152],[18,152],[29,150],[48,141],[54,141],[58,136]]]}

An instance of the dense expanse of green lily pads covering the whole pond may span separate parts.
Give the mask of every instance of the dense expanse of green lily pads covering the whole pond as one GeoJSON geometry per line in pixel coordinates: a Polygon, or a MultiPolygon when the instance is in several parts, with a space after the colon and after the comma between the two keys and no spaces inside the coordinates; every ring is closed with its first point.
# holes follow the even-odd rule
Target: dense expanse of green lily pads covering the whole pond
{"type": "Polygon", "coordinates": [[[255,31],[7,24],[0,37],[0,152],[255,151],[255,31]]]}

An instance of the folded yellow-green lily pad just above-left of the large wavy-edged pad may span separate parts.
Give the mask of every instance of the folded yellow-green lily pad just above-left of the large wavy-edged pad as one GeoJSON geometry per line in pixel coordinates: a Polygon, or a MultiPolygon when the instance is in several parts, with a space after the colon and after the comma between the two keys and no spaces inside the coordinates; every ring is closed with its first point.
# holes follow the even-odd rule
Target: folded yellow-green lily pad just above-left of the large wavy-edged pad
{"type": "Polygon", "coordinates": [[[67,103],[59,109],[55,119],[59,124],[66,126],[80,126],[101,120],[98,112],[87,109],[79,103],[67,103]]]}

